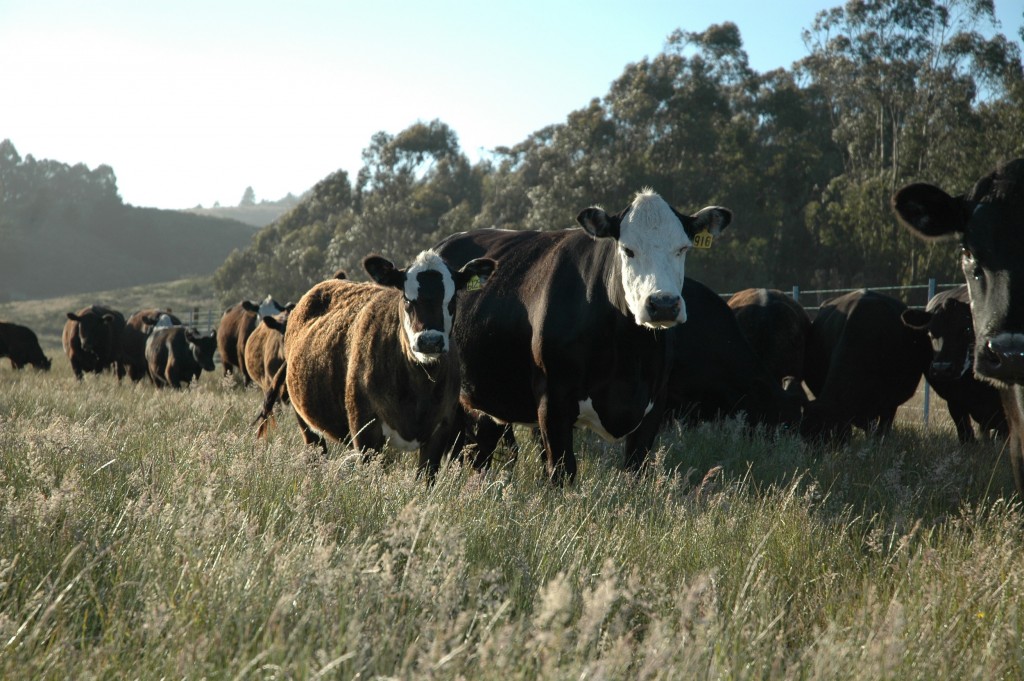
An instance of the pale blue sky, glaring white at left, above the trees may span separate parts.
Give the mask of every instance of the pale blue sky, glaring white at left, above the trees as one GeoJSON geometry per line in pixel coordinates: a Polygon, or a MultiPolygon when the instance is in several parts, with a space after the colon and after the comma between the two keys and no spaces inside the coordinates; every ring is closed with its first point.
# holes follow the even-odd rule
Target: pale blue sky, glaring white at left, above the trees
{"type": "MultiPolygon", "coordinates": [[[[843,0],[0,0],[0,139],[167,209],[298,196],[439,119],[473,161],[562,123],[676,29],[788,69],[843,0]]],[[[996,0],[1016,38],[1024,0],[996,0]]]]}

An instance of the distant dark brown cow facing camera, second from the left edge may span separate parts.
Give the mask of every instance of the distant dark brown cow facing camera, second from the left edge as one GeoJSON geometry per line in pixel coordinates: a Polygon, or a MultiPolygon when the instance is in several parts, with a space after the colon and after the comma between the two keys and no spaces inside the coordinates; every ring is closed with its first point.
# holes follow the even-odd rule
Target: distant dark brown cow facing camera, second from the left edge
{"type": "Polygon", "coordinates": [[[124,378],[121,356],[124,327],[124,315],[104,305],[89,305],[77,312],[68,312],[61,344],[75,378],[82,380],[85,373],[99,374],[112,367],[119,381],[124,378]]]}

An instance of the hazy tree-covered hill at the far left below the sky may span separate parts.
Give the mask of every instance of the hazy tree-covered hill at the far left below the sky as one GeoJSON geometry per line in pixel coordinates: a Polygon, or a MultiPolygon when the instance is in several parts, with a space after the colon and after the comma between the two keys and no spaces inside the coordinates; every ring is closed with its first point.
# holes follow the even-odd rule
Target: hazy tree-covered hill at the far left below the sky
{"type": "Polygon", "coordinates": [[[210,274],[255,229],[125,205],[113,169],[24,160],[0,142],[0,300],[210,274]]]}

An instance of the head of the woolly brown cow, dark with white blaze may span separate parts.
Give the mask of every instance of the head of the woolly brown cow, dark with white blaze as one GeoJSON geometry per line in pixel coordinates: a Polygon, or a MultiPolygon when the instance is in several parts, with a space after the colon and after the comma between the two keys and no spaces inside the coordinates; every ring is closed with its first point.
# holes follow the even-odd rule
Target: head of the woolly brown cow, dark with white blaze
{"type": "Polygon", "coordinates": [[[474,278],[482,284],[496,264],[489,258],[477,258],[453,272],[439,255],[424,251],[409,269],[396,269],[380,256],[368,257],[362,266],[378,284],[401,291],[401,326],[409,348],[417,361],[428,364],[440,358],[451,345],[456,291],[474,278]]]}

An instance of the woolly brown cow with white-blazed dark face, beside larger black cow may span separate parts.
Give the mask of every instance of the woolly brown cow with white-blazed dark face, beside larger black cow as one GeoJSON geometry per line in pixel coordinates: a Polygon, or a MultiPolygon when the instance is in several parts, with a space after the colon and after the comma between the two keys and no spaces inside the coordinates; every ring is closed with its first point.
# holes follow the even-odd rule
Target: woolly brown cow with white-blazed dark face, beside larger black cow
{"type": "MultiPolygon", "coordinates": [[[[462,430],[456,292],[482,284],[495,262],[453,270],[428,250],[407,269],[377,255],[362,264],[374,284],[332,279],[299,300],[279,376],[307,443],[326,451],[324,437],[351,437],[367,452],[388,442],[419,450],[419,469],[432,479],[462,430]]],[[[271,395],[261,416],[272,408],[271,395]]]]}

